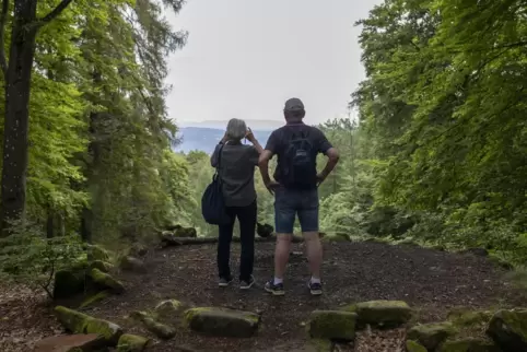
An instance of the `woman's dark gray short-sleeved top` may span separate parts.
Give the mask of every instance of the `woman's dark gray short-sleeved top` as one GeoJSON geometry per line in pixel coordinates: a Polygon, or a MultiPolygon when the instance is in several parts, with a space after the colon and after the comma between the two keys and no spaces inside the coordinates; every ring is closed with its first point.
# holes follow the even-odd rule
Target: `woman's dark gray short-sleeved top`
{"type": "MultiPolygon", "coordinates": [[[[218,144],[210,162],[218,166],[218,144]]],[[[253,145],[225,143],[222,149],[219,175],[223,181],[223,197],[226,207],[246,207],[256,200],[255,167],[258,165],[258,151],[253,145]]]]}

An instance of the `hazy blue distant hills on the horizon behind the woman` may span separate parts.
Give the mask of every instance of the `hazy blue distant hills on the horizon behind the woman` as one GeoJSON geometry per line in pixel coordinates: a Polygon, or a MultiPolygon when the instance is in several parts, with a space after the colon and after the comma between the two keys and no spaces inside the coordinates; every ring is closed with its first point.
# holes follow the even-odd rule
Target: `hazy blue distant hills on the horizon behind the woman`
{"type": "MultiPolygon", "coordinates": [[[[271,134],[272,129],[257,130],[253,129],[258,141],[266,146],[267,139],[271,134]]],[[[206,153],[212,153],[218,142],[225,133],[225,129],[207,128],[207,127],[184,127],[179,129],[179,137],[183,139],[181,144],[176,146],[177,152],[188,153],[198,150],[206,153]]],[[[250,144],[247,142],[247,144],[250,144]]]]}

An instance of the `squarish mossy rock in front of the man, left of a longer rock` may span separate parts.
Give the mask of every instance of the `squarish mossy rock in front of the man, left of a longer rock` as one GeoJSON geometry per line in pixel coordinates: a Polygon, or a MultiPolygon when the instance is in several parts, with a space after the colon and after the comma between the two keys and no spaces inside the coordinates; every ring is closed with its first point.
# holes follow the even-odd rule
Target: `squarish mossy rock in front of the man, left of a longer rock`
{"type": "Polygon", "coordinates": [[[312,338],[347,340],[355,338],[356,314],[341,310],[314,310],[308,331],[312,338]]]}

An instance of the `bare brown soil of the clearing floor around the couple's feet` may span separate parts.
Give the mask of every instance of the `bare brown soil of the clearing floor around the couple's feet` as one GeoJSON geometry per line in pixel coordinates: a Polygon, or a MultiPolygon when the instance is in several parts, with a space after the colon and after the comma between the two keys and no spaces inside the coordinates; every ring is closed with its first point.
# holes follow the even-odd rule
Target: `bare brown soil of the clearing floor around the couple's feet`
{"type": "MultiPolygon", "coordinates": [[[[309,351],[305,349],[305,322],[314,309],[332,309],[370,300],[402,300],[418,308],[419,321],[434,321],[444,319],[453,307],[518,305],[515,290],[502,279],[504,271],[483,257],[375,243],[325,244],[321,297],[309,296],[306,260],[298,254],[293,255],[285,281],[286,294],[273,297],[262,290],[264,282],[272,275],[273,244],[257,244],[256,250],[257,285],[248,292],[239,291],[236,282],[227,289],[218,288],[214,245],[181,246],[151,253],[145,259],[145,274],[120,273],[118,278],[128,288],[127,292],[85,312],[117,322],[128,331],[152,337],[127,319],[127,315],[132,310],[152,309],[165,298],[196,306],[253,310],[262,317],[255,338],[210,338],[181,328],[174,339],[155,341],[151,351],[309,351]]],[[[293,251],[303,251],[303,244],[294,245],[293,251]]],[[[237,269],[238,253],[238,245],[233,245],[233,273],[237,269]]],[[[39,337],[56,333],[57,325],[42,305],[33,314],[25,312],[25,316],[40,317],[32,318],[40,321],[36,326],[19,321],[15,312],[19,312],[16,316],[23,316],[24,309],[35,309],[23,302],[0,297],[1,351],[8,351],[4,345],[27,351],[22,341],[7,344],[5,336],[10,333],[4,329],[39,329],[39,337]]],[[[403,329],[365,330],[359,333],[354,347],[338,345],[336,351],[403,351],[403,329]]]]}

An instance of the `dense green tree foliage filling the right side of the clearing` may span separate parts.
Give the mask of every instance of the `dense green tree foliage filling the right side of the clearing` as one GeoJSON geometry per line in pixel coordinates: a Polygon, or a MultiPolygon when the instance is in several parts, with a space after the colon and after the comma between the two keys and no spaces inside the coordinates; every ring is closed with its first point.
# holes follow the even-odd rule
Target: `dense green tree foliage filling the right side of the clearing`
{"type": "Polygon", "coordinates": [[[409,236],[525,262],[527,25],[522,1],[386,0],[360,22],[353,95],[383,165],[375,207],[409,236]]]}

